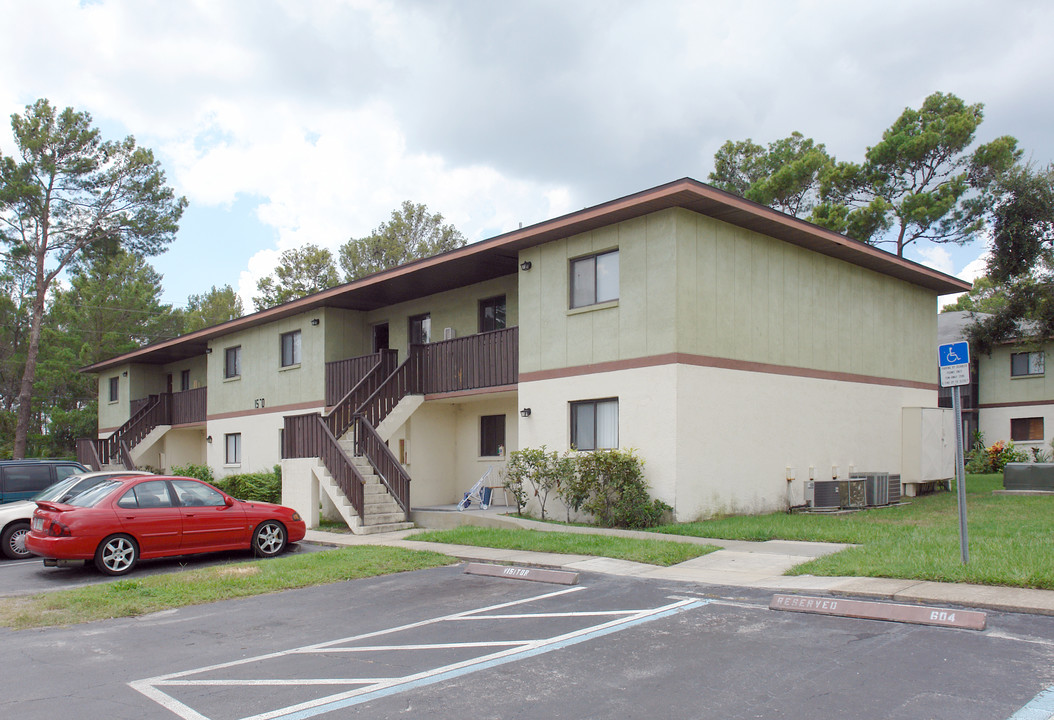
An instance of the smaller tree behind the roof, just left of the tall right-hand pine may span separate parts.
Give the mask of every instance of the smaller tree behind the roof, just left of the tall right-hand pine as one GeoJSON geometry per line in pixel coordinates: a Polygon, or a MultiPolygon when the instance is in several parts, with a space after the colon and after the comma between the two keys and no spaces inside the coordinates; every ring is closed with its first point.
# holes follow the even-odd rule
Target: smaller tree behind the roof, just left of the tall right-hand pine
{"type": "Polygon", "coordinates": [[[807,217],[819,200],[820,177],[833,162],[822,144],[799,132],[767,149],[749,138],[728,140],[714,155],[709,180],[748,200],[807,217]]]}

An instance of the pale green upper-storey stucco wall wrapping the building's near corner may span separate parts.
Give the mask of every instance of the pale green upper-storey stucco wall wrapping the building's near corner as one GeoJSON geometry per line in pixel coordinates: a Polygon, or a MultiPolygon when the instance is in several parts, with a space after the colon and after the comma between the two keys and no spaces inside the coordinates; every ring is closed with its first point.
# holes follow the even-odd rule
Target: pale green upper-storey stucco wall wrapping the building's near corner
{"type": "Polygon", "coordinates": [[[524,251],[520,370],[689,353],[932,384],[934,292],[672,209],[524,251]],[[619,249],[619,300],[569,309],[569,261],[619,249]]]}

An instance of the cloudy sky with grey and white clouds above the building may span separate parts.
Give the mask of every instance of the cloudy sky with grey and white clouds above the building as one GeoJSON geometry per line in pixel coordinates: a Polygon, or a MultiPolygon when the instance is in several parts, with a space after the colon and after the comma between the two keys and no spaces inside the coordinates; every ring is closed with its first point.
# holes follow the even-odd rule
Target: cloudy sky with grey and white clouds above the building
{"type": "MultiPolygon", "coordinates": [[[[404,200],[481,240],[799,131],[861,161],[941,91],[1054,160],[1048,0],[0,0],[0,113],[134,135],[190,201],[164,301],[332,251],[404,200]]],[[[0,153],[15,150],[0,122],[0,153]]],[[[906,256],[970,279],[983,239],[906,256]]]]}

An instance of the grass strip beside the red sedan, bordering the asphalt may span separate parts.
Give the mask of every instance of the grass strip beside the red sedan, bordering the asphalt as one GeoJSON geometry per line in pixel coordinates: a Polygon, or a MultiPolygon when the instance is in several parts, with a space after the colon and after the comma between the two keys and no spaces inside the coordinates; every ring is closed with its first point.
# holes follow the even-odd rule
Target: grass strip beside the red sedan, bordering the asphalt
{"type": "Polygon", "coordinates": [[[22,629],[128,618],[310,585],[440,567],[457,562],[438,552],[363,545],[327,552],[233,563],[186,572],[132,576],[102,585],[0,599],[0,625],[22,629]]]}

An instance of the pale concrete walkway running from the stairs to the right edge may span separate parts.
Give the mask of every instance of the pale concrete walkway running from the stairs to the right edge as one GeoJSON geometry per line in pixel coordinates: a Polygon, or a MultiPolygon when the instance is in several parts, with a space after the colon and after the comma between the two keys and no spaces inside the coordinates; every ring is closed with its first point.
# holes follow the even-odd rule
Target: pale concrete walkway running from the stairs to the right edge
{"type": "Polygon", "coordinates": [[[501,512],[504,512],[504,508],[499,508],[497,511],[491,507],[489,511],[467,510],[465,512],[450,511],[451,509],[426,508],[414,510],[412,519],[418,525],[418,528],[412,530],[369,536],[308,530],[305,540],[336,546],[388,545],[414,550],[432,550],[458,558],[460,560],[502,565],[529,565],[570,571],[605,572],[608,575],[631,576],[645,579],[653,578],[656,580],[676,580],[708,585],[753,587],[805,593],[823,592],[835,596],[894,600],[897,602],[952,604],[1054,616],[1054,590],[969,585],[965,583],[920,582],[917,580],[894,580],[889,578],[828,578],[783,575],[795,565],[832,552],[838,552],[848,547],[847,545],[838,543],[806,543],[785,540],[747,542],[741,540],[688,538],[685,536],[659,534],[636,530],[612,530],[540,523],[501,514],[501,512]],[[457,525],[521,527],[542,531],[619,534],[647,540],[661,539],[682,543],[717,545],[722,549],[669,567],[659,567],[627,560],[598,558],[596,556],[504,550],[469,545],[426,543],[413,540],[413,536],[424,531],[424,529],[446,529],[456,527],[457,525]]]}

